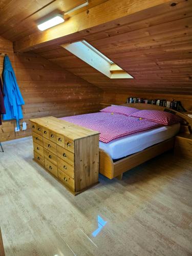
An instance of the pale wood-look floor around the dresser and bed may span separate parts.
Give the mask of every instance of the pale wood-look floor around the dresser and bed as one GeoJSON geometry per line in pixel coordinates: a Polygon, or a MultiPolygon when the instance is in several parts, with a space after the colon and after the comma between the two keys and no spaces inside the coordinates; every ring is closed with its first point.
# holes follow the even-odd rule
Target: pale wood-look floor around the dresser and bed
{"type": "Polygon", "coordinates": [[[9,255],[192,255],[192,161],[159,156],[74,197],[33,160],[32,140],[0,153],[9,255]],[[106,221],[97,236],[98,216],[106,221]]]}

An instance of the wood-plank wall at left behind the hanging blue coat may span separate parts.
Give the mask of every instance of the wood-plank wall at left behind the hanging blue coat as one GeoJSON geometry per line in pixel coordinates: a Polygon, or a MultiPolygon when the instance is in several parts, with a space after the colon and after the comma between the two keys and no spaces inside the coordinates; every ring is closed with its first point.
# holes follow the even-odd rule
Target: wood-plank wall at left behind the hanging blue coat
{"type": "MultiPolygon", "coordinates": [[[[56,66],[38,54],[14,54],[12,42],[0,37],[0,53],[8,53],[20,91],[24,97],[26,131],[15,133],[15,121],[0,126],[0,141],[31,135],[29,119],[42,116],[63,117],[96,112],[102,91],[89,82],[56,66]]],[[[3,69],[0,55],[0,73],[3,69]]],[[[22,122],[20,122],[22,123],[22,122]]]]}

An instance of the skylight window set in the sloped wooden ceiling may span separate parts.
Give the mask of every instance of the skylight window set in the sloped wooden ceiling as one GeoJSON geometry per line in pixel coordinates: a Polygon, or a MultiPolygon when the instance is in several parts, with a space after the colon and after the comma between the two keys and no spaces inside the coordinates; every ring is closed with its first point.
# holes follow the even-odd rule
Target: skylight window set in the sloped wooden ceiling
{"type": "Polygon", "coordinates": [[[85,40],[61,46],[109,78],[133,78],[85,40]]]}

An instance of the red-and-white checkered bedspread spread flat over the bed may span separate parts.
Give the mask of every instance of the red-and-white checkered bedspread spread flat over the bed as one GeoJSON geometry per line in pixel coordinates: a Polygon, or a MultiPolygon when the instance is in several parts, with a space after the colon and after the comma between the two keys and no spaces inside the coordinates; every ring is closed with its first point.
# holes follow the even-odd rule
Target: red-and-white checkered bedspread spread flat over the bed
{"type": "Polygon", "coordinates": [[[60,119],[98,131],[100,133],[99,140],[104,143],[163,126],[163,124],[144,119],[139,120],[135,117],[119,114],[112,115],[104,112],[62,117],[60,119]]]}

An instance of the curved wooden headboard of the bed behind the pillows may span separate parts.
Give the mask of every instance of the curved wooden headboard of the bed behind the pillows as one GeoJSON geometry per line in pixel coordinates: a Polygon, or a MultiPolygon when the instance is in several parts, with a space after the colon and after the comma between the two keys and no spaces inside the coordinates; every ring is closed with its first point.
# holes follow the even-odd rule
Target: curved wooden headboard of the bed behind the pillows
{"type": "Polygon", "coordinates": [[[178,112],[177,110],[173,110],[173,109],[169,109],[166,108],[165,106],[158,106],[158,105],[153,105],[153,104],[145,104],[145,103],[126,103],[126,104],[122,104],[123,106],[131,106],[132,108],[136,108],[138,110],[160,110],[160,111],[166,111],[176,114],[178,116],[180,116],[184,121],[185,121],[185,125],[188,125],[188,129],[191,133],[191,127],[192,127],[192,118],[188,117],[187,115],[178,112]]]}

